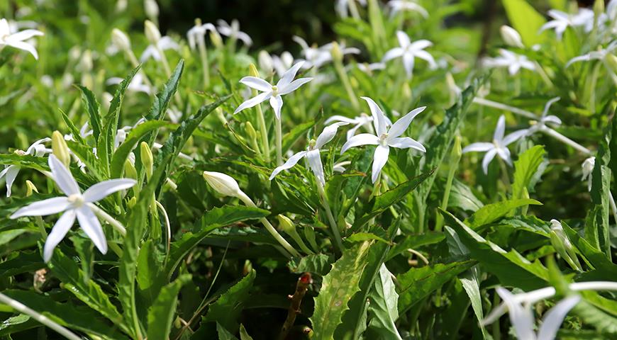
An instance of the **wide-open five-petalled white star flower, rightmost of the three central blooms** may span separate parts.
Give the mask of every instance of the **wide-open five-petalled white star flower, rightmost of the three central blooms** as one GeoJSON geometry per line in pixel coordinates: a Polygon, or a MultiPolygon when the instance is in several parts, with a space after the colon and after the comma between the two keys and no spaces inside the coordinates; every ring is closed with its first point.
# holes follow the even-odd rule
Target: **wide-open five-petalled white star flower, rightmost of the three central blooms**
{"type": "Polygon", "coordinates": [[[397,149],[411,148],[420,152],[426,152],[426,148],[416,140],[413,140],[410,137],[399,137],[403,134],[403,132],[405,132],[405,130],[407,130],[409,124],[411,124],[411,120],[416,118],[416,115],[424,111],[426,106],[409,111],[409,113],[404,115],[402,118],[396,120],[390,128],[387,128],[386,116],[384,115],[382,109],[377,106],[377,103],[369,97],[361,98],[369,104],[376,134],[372,135],[370,133],[361,133],[360,135],[351,137],[347,142],[345,142],[345,145],[343,145],[343,149],[340,150],[340,153],[343,154],[343,152],[347,151],[350,147],[357,147],[360,145],[377,145],[373,156],[371,177],[372,183],[375,183],[379,177],[379,173],[382,172],[384,165],[388,162],[390,147],[396,147],[397,149]]]}

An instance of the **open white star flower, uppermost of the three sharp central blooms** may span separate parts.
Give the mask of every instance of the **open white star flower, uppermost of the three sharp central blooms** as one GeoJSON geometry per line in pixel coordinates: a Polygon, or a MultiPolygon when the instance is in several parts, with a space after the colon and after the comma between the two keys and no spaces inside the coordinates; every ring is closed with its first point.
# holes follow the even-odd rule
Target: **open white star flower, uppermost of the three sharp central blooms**
{"type": "Polygon", "coordinates": [[[274,115],[277,116],[277,119],[281,119],[281,108],[283,106],[283,98],[281,96],[296,91],[300,86],[313,80],[313,78],[299,78],[294,80],[302,64],[303,62],[298,62],[291,67],[291,69],[288,69],[276,85],[269,84],[267,81],[257,77],[244,77],[240,79],[240,83],[249,86],[251,89],[262,91],[262,93],[241,103],[233,113],[235,114],[243,111],[245,108],[252,108],[259,103],[269,100],[270,106],[272,106],[274,110],[274,115]]]}

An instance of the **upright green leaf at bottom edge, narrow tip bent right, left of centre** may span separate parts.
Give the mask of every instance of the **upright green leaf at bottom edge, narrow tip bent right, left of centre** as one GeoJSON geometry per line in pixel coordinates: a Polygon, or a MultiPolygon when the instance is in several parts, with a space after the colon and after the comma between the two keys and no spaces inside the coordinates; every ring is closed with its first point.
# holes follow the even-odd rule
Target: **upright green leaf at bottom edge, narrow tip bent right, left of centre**
{"type": "Polygon", "coordinates": [[[176,314],[180,288],[191,280],[189,274],[179,276],[160,290],[154,304],[148,310],[148,339],[167,340],[176,314]]]}

